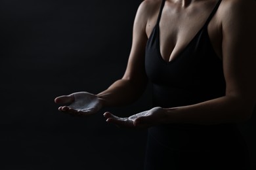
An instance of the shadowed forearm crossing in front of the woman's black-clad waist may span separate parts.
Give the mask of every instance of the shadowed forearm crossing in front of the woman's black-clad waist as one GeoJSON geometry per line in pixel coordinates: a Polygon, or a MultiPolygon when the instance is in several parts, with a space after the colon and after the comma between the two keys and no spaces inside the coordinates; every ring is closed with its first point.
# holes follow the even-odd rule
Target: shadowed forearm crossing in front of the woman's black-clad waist
{"type": "Polygon", "coordinates": [[[244,122],[251,116],[253,106],[254,102],[224,96],[196,105],[165,109],[165,123],[207,125],[244,122]]]}

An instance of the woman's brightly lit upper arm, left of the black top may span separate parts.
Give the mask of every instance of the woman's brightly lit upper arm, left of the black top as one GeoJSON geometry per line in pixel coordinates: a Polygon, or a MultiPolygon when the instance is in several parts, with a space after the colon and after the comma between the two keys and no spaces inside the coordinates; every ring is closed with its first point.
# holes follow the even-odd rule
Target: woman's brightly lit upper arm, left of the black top
{"type": "Polygon", "coordinates": [[[137,10],[133,25],[131,52],[125,74],[123,75],[123,79],[130,80],[131,82],[134,82],[133,84],[136,84],[136,86],[142,87],[144,87],[147,82],[144,69],[144,54],[146,42],[148,41],[146,36],[146,23],[148,20],[147,5],[148,3],[143,1],[137,10]]]}

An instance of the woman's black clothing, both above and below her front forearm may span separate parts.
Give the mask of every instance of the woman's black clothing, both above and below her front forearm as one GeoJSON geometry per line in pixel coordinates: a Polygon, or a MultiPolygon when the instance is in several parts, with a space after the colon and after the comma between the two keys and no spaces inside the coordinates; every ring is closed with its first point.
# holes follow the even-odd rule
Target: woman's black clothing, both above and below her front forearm
{"type": "MultiPolygon", "coordinates": [[[[159,23],[165,4],[162,1],[145,56],[146,74],[153,84],[153,107],[192,105],[225,95],[223,62],[207,33],[207,25],[220,3],[221,0],[179,56],[167,62],[160,53],[159,23]]],[[[148,136],[145,169],[186,169],[187,165],[189,169],[221,169],[221,165],[245,169],[248,160],[236,124],[169,124],[151,127],[148,136]]]]}

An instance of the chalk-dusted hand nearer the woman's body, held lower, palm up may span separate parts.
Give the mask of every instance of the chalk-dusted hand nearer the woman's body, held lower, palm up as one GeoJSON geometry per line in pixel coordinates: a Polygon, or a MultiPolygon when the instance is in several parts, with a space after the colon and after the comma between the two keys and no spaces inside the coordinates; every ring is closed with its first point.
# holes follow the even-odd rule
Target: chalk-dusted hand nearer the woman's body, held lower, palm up
{"type": "Polygon", "coordinates": [[[116,124],[118,127],[150,127],[158,124],[163,124],[166,121],[166,110],[161,107],[154,107],[153,109],[133,114],[129,118],[119,118],[110,112],[103,114],[106,118],[106,122],[116,124]]]}

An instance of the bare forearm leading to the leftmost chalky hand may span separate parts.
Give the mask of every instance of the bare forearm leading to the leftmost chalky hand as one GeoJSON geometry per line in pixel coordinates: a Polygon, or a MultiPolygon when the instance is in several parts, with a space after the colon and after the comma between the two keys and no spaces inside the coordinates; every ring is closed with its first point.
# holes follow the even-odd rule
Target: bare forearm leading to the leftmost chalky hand
{"type": "Polygon", "coordinates": [[[101,99],[103,107],[128,105],[136,101],[145,88],[146,81],[135,84],[131,80],[120,79],[97,96],[101,99]]]}

